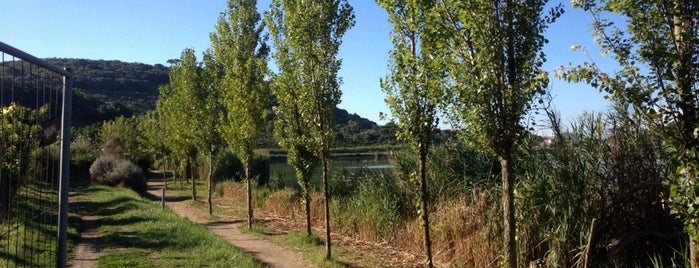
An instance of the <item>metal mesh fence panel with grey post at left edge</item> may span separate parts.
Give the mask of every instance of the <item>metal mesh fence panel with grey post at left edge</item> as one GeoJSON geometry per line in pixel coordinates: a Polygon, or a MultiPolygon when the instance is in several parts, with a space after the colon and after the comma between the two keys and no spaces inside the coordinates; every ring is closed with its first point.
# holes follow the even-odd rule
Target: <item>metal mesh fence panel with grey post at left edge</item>
{"type": "Polygon", "coordinates": [[[71,75],[0,42],[0,267],[65,267],[71,75]]]}

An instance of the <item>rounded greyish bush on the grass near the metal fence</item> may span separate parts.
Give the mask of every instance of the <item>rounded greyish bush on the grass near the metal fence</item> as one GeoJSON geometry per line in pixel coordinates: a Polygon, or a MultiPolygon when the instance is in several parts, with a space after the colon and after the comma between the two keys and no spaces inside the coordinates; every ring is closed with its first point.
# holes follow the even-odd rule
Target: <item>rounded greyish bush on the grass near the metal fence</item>
{"type": "Polygon", "coordinates": [[[130,188],[140,195],[145,195],[148,190],[146,175],[140,167],[111,155],[97,158],[92,163],[90,178],[100,184],[130,188]]]}

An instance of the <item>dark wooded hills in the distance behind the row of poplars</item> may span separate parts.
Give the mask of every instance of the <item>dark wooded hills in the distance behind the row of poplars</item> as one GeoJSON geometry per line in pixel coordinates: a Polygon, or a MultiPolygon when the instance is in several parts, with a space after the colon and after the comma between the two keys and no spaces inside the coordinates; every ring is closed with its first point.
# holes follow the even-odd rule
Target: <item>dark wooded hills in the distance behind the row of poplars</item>
{"type": "MultiPolygon", "coordinates": [[[[144,114],[155,109],[158,87],[169,82],[170,69],[161,64],[62,58],[49,58],[46,61],[67,67],[75,74],[73,125],[77,127],[118,116],[144,114]]],[[[395,143],[395,125],[379,126],[343,109],[337,109],[335,119],[338,145],[395,143]]],[[[272,124],[268,125],[265,136],[262,143],[276,147],[272,138],[272,124]]]]}

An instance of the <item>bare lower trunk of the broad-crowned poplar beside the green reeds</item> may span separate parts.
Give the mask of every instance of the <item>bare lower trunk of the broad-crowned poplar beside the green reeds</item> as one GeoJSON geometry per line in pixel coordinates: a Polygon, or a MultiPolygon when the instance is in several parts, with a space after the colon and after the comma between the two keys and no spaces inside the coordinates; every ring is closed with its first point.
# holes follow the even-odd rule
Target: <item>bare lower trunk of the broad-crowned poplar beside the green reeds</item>
{"type": "Polygon", "coordinates": [[[505,252],[507,265],[517,268],[517,241],[515,223],[515,198],[514,198],[514,168],[512,167],[512,152],[504,150],[499,157],[502,167],[502,214],[504,226],[505,252]]]}

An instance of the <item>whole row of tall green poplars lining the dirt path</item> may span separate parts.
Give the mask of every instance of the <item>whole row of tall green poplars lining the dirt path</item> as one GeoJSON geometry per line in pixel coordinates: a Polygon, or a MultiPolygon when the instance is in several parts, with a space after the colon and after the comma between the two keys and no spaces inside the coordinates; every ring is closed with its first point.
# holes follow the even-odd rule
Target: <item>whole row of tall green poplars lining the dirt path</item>
{"type": "MultiPolygon", "coordinates": [[[[560,152],[570,160],[562,162],[562,169],[556,169],[560,176],[565,176],[567,168],[576,168],[571,163],[581,153],[567,147],[575,137],[565,136],[557,125],[560,122],[555,120],[556,114],[545,107],[550,76],[542,69],[546,60],[542,49],[548,42],[545,33],[564,9],[560,5],[549,7],[546,0],[377,3],[388,12],[393,26],[390,74],[381,80],[381,87],[396,121],[397,138],[409,144],[417,158],[417,171],[409,176],[417,182],[420,192],[417,208],[424,231],[425,265],[434,265],[430,207],[435,200],[430,198],[428,188],[433,179],[428,163],[433,161],[433,138],[442,118],[449,120],[470,146],[498,163],[502,264],[519,267],[521,256],[527,260],[540,256],[539,251],[545,250],[537,249],[541,244],[517,241],[522,232],[537,232],[518,230],[532,226],[516,222],[517,215],[532,211],[518,212],[515,205],[532,202],[547,206],[546,201],[517,200],[515,189],[518,185],[523,190],[527,185],[551,187],[525,180],[531,179],[532,174],[523,171],[530,172],[527,166],[534,164],[525,160],[546,157],[546,150],[541,149],[544,147],[530,144],[525,120],[528,113],[544,110],[552,119],[557,135],[554,144],[560,145],[560,152]],[[523,152],[523,147],[529,151],[523,152]],[[527,157],[531,155],[538,156],[527,157]],[[522,178],[516,178],[518,175],[522,178]],[[536,203],[539,201],[543,203],[536,203]],[[522,244],[526,248],[518,248],[522,244]]],[[[698,7],[679,0],[574,1],[574,6],[591,14],[593,37],[605,53],[614,55],[622,69],[612,73],[589,62],[562,67],[556,75],[571,82],[587,82],[606,92],[618,107],[618,115],[624,118],[622,123],[633,122],[629,124],[637,127],[639,133],[652,134],[647,140],[635,137],[633,141],[653,144],[657,139],[662,143],[664,156],[658,156],[658,160],[665,161],[667,157],[665,165],[671,172],[662,184],[666,190],[654,193],[664,194],[663,202],[683,221],[689,245],[688,263],[698,267],[698,7]],[[627,28],[618,28],[604,19],[608,14],[626,19],[627,28]]],[[[152,137],[153,151],[173,155],[185,164],[199,152],[206,152],[211,166],[216,150],[229,146],[245,166],[251,227],[250,161],[264,122],[274,111],[274,138],[297,171],[309,235],[310,174],[315,168],[323,171],[326,257],[331,258],[328,160],[336,137],[334,113],[341,97],[341,80],[337,77],[341,60],[337,52],[343,35],[353,24],[353,9],[344,0],[274,0],[264,19],[257,12],[256,1],[228,1],[216,32],[211,34],[212,47],[203,53],[203,60],[186,49],[170,70],[170,83],[160,88],[157,108],[147,115],[153,118],[149,121],[151,128],[158,130],[154,133],[159,133],[152,137]],[[267,68],[270,56],[279,69],[276,73],[267,68]],[[274,109],[271,95],[276,97],[274,109]]],[[[615,146],[629,146],[623,139],[631,141],[631,137],[613,131],[621,125],[609,127],[591,119],[580,129],[587,131],[589,137],[614,142],[615,146]],[[605,131],[612,134],[604,134],[605,131]]],[[[653,166],[651,162],[639,165],[653,166]]],[[[211,173],[208,177],[211,212],[211,173]]],[[[577,182],[568,186],[582,187],[576,196],[583,198],[588,194],[583,189],[585,185],[588,184],[577,182]]],[[[192,190],[196,198],[195,189],[192,190]]],[[[553,200],[556,199],[551,197],[549,202],[553,200]]],[[[567,209],[576,207],[567,204],[567,209]]],[[[594,240],[594,226],[593,220],[590,241],[594,240]]],[[[588,258],[589,250],[588,247],[587,253],[576,257],[578,265],[593,263],[588,258]]]]}

